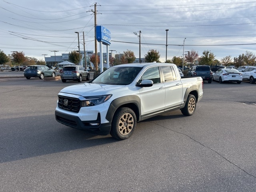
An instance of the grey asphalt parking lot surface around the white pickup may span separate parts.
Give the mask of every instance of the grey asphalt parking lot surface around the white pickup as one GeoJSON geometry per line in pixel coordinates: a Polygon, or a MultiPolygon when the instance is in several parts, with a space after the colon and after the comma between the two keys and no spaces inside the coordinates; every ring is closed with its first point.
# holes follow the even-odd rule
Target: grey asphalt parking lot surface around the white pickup
{"type": "Polygon", "coordinates": [[[256,84],[205,82],[193,116],[150,118],[123,141],[56,122],[74,84],[0,79],[1,192],[256,191],[256,84]]]}

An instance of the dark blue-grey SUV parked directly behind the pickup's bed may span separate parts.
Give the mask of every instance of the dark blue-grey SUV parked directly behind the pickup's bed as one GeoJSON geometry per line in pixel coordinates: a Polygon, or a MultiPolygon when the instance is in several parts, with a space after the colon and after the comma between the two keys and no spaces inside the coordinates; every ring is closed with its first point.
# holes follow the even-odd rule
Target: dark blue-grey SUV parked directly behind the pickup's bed
{"type": "Polygon", "coordinates": [[[212,82],[212,71],[209,65],[195,65],[189,71],[189,76],[202,77],[208,83],[212,82]]]}

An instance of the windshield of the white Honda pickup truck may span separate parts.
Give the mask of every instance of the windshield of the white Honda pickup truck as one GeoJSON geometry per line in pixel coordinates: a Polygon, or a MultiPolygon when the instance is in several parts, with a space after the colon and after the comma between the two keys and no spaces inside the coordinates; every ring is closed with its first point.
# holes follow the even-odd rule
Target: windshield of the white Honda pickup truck
{"type": "Polygon", "coordinates": [[[111,67],[102,72],[90,83],[128,85],[134,80],[141,69],[141,67],[111,67]]]}

